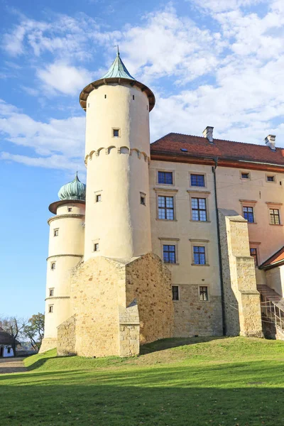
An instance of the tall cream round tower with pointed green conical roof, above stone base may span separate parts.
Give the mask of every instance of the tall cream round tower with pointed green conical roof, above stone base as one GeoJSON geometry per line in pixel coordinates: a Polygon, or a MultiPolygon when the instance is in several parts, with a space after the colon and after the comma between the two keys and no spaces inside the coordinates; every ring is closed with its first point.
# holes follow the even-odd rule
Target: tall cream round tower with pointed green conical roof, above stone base
{"type": "Polygon", "coordinates": [[[86,111],[84,259],[149,253],[154,94],[129,74],[117,53],[107,74],[82,90],[80,104],[86,111]]]}

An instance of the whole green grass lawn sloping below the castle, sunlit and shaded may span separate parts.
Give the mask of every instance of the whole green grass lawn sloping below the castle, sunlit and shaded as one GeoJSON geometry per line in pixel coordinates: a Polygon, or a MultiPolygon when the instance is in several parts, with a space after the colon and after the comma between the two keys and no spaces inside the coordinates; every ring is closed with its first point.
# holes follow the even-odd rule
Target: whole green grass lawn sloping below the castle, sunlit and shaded
{"type": "Polygon", "coordinates": [[[0,375],[1,425],[284,425],[284,342],[166,339],[131,359],[25,364],[0,375]]]}

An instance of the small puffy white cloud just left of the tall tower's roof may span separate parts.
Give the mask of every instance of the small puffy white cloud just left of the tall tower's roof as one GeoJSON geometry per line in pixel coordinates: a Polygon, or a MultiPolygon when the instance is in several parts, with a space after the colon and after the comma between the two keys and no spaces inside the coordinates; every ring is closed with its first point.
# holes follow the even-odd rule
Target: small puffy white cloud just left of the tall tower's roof
{"type": "Polygon", "coordinates": [[[37,74],[48,91],[55,90],[64,94],[78,94],[89,82],[92,82],[90,72],[64,62],[50,64],[45,69],[38,70],[37,74]]]}

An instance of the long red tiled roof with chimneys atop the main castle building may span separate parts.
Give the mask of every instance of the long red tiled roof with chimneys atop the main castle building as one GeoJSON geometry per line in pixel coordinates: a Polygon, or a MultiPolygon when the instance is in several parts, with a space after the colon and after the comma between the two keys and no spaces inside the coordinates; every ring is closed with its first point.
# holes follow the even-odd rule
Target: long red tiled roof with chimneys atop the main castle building
{"type": "Polygon", "coordinates": [[[276,151],[272,151],[266,145],[224,141],[223,139],[214,139],[214,143],[209,143],[207,138],[202,136],[180,133],[168,133],[158,141],[151,143],[151,155],[218,157],[223,160],[257,161],[284,166],[283,148],[276,148],[276,151]],[[187,152],[180,151],[181,148],[187,149],[187,152]]]}

